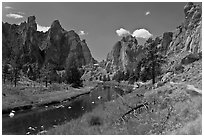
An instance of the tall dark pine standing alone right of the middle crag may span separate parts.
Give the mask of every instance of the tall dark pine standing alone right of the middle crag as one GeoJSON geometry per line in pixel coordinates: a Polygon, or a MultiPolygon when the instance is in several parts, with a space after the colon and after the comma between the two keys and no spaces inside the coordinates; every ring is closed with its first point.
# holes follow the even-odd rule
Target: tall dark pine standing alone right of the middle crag
{"type": "Polygon", "coordinates": [[[158,41],[157,39],[148,39],[147,40],[147,45],[145,47],[145,58],[143,58],[139,62],[139,70],[141,72],[141,69],[143,68],[143,73],[140,73],[140,78],[147,79],[148,75],[145,75],[145,73],[149,74],[151,79],[152,79],[152,84],[154,84],[155,78],[157,75],[159,75],[159,71],[161,70],[161,65],[163,63],[166,63],[166,57],[163,56],[158,48],[158,41]]]}

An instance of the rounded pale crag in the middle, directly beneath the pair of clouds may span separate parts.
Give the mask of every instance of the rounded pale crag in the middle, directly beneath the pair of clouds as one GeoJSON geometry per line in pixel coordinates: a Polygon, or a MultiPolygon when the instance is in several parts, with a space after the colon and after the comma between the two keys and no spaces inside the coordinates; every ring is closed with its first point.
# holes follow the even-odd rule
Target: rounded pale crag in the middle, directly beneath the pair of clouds
{"type": "Polygon", "coordinates": [[[118,70],[130,73],[136,69],[140,59],[144,56],[143,46],[138,45],[135,37],[128,35],[118,41],[107,56],[106,70],[118,70]]]}

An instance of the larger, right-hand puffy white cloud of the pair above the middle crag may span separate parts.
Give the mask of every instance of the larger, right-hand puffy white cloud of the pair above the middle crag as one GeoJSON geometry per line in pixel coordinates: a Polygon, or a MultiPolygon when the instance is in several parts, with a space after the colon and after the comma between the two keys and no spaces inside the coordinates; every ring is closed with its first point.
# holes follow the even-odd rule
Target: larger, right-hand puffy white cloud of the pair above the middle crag
{"type": "Polygon", "coordinates": [[[133,32],[132,36],[138,37],[138,38],[148,39],[148,38],[152,37],[153,35],[146,29],[136,29],[133,32]]]}

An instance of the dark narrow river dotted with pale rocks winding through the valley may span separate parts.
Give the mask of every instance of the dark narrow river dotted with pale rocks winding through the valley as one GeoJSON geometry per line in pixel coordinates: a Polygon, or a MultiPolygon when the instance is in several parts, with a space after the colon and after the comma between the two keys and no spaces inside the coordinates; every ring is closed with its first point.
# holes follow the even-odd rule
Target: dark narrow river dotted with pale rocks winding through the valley
{"type": "Polygon", "coordinates": [[[72,101],[40,109],[16,112],[10,118],[2,116],[2,134],[38,134],[56,125],[81,117],[98,105],[124,95],[125,91],[113,86],[98,85],[90,94],[82,95],[72,101]]]}

